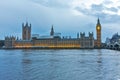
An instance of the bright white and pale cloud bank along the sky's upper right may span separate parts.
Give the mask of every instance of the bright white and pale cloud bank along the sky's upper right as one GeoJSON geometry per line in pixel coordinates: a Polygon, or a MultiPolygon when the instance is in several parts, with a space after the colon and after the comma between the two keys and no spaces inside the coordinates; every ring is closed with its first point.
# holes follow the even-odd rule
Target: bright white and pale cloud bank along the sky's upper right
{"type": "Polygon", "coordinates": [[[73,10],[75,14],[85,14],[91,16],[102,16],[106,15],[119,15],[120,10],[118,0],[31,0],[37,4],[51,7],[51,8],[64,8],[73,10]],[[115,6],[117,4],[117,7],[115,6]]]}

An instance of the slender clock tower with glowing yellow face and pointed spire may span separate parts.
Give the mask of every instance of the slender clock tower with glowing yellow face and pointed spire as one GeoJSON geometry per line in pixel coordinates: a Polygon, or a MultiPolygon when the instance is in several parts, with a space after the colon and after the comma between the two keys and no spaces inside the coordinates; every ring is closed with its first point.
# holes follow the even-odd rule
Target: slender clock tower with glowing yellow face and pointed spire
{"type": "Polygon", "coordinates": [[[96,45],[98,48],[100,48],[101,47],[101,24],[100,24],[99,18],[98,18],[97,25],[96,25],[96,32],[97,32],[96,45]]]}

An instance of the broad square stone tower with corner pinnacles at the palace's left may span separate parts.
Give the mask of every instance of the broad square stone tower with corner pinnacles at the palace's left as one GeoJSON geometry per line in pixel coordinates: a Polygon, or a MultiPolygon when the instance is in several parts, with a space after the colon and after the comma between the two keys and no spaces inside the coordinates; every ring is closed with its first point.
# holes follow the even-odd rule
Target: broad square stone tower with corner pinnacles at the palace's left
{"type": "Polygon", "coordinates": [[[28,22],[24,25],[22,24],[22,40],[30,40],[31,39],[31,24],[28,25],[28,22]]]}

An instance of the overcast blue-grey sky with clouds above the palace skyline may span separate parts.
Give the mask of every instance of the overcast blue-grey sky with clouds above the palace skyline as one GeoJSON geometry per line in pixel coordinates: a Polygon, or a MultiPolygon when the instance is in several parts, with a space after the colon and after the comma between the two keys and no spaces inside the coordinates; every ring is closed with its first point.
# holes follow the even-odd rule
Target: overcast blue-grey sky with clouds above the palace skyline
{"type": "Polygon", "coordinates": [[[102,41],[120,33],[120,0],[0,0],[0,38],[21,37],[22,23],[32,24],[32,34],[55,32],[76,37],[77,32],[94,32],[97,18],[102,25],[102,41]]]}

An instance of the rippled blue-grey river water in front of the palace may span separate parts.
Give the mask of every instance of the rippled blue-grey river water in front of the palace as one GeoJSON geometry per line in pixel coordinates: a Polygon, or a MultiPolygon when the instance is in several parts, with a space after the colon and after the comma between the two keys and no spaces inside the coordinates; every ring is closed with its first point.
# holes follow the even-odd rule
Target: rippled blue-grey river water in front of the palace
{"type": "Polygon", "coordinates": [[[0,80],[120,80],[120,52],[0,50],[0,80]]]}

